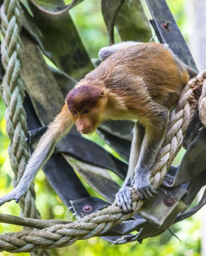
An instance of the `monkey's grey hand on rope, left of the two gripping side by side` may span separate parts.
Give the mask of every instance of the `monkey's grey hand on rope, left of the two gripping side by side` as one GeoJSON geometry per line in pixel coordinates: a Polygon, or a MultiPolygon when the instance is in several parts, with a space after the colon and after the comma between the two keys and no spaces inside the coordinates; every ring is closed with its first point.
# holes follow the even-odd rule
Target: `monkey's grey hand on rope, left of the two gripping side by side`
{"type": "Polygon", "coordinates": [[[116,193],[116,202],[118,206],[123,210],[124,213],[128,214],[133,212],[132,199],[131,199],[131,188],[128,186],[119,189],[116,193]]]}

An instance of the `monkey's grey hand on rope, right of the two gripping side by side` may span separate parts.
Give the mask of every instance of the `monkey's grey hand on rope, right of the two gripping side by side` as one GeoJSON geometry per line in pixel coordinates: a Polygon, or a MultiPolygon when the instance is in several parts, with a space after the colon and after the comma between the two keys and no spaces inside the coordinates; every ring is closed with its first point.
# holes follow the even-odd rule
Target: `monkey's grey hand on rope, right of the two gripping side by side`
{"type": "Polygon", "coordinates": [[[131,183],[131,187],[135,188],[139,198],[142,200],[153,198],[154,195],[157,194],[157,191],[149,181],[149,175],[146,175],[144,172],[141,172],[141,175],[136,173],[131,183]]]}

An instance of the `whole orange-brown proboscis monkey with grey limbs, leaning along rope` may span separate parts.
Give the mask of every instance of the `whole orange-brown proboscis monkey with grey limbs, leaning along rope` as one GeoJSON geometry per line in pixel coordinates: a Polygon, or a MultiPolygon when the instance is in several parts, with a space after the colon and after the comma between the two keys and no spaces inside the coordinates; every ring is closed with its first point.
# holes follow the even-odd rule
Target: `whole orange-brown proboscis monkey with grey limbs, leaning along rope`
{"type": "Polygon", "coordinates": [[[81,134],[92,134],[105,120],[136,120],[128,174],[116,201],[125,213],[132,212],[131,187],[141,199],[156,191],[151,186],[154,165],[175,104],[189,75],[197,72],[177,58],[166,44],[123,42],[99,51],[103,62],[78,82],[61,112],[49,125],[29,160],[18,186],[0,204],[26,193],[39,169],[75,124],[81,134]]]}

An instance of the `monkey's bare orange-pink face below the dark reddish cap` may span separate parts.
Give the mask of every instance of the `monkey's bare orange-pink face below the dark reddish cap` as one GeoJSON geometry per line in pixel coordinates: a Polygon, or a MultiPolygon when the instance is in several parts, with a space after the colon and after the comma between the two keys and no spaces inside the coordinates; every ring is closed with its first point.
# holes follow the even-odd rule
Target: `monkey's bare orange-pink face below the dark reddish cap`
{"type": "Polygon", "coordinates": [[[92,134],[98,125],[98,118],[93,108],[70,111],[77,131],[81,134],[92,134]]]}

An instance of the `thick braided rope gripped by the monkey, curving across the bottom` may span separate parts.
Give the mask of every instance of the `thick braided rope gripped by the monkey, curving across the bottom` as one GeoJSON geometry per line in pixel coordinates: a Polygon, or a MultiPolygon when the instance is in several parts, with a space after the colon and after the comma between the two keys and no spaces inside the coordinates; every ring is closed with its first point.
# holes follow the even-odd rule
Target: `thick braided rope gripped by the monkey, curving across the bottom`
{"type": "MultiPolygon", "coordinates": [[[[203,116],[203,119],[201,117],[200,119],[204,124],[206,120],[206,70],[188,82],[181,93],[176,109],[171,112],[165,140],[158,154],[157,163],[152,169],[151,182],[155,188],[161,185],[168,167],[180,150],[183,135],[197,110],[199,97],[199,111],[204,111],[200,113],[200,116],[203,116]]],[[[0,251],[20,253],[39,248],[65,247],[77,240],[102,236],[114,225],[136,214],[142,207],[143,201],[139,200],[134,189],[132,190],[132,202],[133,213],[131,214],[124,214],[114,202],[111,206],[85,216],[80,221],[71,221],[69,224],[55,225],[40,231],[28,230],[1,235],[0,251]]]]}

